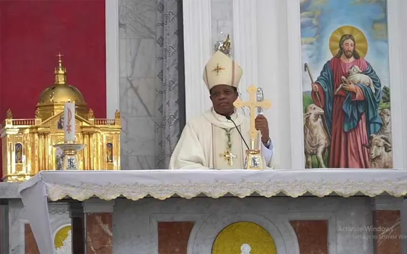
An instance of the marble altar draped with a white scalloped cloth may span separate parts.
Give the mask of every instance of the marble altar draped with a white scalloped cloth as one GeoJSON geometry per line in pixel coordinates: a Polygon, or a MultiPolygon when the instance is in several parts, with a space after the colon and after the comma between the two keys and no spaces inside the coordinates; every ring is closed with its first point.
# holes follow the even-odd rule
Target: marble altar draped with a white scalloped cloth
{"type": "Polygon", "coordinates": [[[55,253],[57,205],[72,253],[400,253],[407,174],[41,171],[18,191],[40,253],[55,253]]]}

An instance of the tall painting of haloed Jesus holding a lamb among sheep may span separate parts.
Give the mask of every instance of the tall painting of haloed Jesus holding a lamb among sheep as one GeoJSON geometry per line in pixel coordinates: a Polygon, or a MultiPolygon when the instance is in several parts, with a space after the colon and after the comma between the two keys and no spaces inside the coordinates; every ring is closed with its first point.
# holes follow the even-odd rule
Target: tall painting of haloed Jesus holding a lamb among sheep
{"type": "Polygon", "coordinates": [[[386,1],[301,2],[305,167],[392,168],[386,1]]]}

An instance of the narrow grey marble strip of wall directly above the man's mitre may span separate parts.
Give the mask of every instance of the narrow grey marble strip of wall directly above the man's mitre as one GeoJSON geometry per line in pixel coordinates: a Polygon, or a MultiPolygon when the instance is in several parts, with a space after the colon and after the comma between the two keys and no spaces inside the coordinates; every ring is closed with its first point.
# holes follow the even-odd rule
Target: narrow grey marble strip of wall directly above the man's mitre
{"type": "MultiPolygon", "coordinates": [[[[232,8],[232,0],[211,1],[212,45],[215,45],[219,40],[224,40],[227,34],[230,34],[230,37],[233,39],[232,8]]],[[[233,53],[233,47],[231,51],[233,53]]]]}

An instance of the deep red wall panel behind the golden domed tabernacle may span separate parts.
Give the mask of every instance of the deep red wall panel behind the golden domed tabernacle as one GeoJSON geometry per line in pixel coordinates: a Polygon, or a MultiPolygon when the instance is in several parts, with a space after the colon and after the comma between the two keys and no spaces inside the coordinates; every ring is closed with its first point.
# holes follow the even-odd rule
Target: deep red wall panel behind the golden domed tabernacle
{"type": "Polygon", "coordinates": [[[0,121],[8,108],[34,118],[60,51],[68,83],[106,117],[105,48],[105,0],[0,0],[0,121]]]}

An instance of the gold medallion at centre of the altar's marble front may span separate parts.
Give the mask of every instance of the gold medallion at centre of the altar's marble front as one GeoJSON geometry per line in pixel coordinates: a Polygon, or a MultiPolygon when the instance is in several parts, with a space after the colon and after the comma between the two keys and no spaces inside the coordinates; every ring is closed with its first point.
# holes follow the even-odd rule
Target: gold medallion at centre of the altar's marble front
{"type": "Polygon", "coordinates": [[[263,227],[250,221],[240,221],[224,228],[216,237],[212,254],[276,254],[273,237],[263,227]]]}

